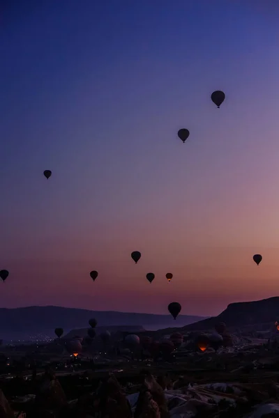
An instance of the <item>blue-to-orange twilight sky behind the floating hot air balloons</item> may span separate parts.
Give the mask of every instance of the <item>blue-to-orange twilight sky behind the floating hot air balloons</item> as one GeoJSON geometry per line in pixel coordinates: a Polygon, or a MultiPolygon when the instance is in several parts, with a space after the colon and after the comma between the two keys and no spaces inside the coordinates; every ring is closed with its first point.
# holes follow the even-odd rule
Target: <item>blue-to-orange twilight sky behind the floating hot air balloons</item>
{"type": "Polygon", "coordinates": [[[278,18],[278,0],[4,1],[1,307],[279,295],[278,18]]]}

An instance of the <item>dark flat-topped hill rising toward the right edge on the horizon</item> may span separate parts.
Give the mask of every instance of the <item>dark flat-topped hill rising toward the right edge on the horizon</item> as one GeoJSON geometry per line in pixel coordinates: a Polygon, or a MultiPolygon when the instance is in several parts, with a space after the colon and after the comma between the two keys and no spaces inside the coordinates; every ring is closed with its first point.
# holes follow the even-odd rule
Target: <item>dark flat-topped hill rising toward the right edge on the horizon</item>
{"type": "Polygon", "coordinates": [[[241,327],[262,323],[275,323],[279,320],[279,297],[254,300],[252,302],[235,302],[227,305],[227,309],[218,316],[199,320],[186,325],[183,331],[208,330],[218,322],[226,323],[227,327],[241,327]]]}

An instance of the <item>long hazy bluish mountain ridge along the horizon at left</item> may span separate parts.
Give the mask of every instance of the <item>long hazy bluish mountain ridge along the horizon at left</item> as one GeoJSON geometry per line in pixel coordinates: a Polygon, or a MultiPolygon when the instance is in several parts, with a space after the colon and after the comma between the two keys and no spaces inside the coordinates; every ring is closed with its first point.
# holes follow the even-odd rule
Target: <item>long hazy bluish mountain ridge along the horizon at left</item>
{"type": "MultiPolygon", "coordinates": [[[[117,311],[91,311],[88,309],[64,307],[24,307],[0,308],[0,333],[47,333],[54,328],[62,327],[65,332],[74,328],[89,327],[90,318],[96,318],[98,326],[105,325],[146,325],[157,324],[169,327],[174,323],[170,315],[136,314],[117,311]]],[[[201,316],[180,315],[176,320],[178,326],[183,326],[200,320],[201,316]]]]}

